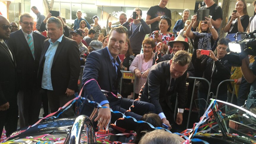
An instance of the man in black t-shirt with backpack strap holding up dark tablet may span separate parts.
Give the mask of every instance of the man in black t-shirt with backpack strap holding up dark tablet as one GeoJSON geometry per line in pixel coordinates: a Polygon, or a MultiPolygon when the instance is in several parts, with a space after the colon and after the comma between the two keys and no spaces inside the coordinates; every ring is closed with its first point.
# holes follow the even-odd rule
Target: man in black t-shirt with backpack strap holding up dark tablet
{"type": "MultiPolygon", "coordinates": [[[[213,0],[203,0],[204,3],[206,4],[203,7],[200,7],[198,10],[210,10],[210,14],[212,16],[211,18],[211,24],[213,27],[218,31],[221,21],[223,18],[223,12],[220,6],[214,3],[213,0]]],[[[193,15],[193,17],[197,18],[196,15],[193,15]]],[[[193,23],[193,29],[196,29],[198,26],[198,21],[196,20],[193,23]]]]}

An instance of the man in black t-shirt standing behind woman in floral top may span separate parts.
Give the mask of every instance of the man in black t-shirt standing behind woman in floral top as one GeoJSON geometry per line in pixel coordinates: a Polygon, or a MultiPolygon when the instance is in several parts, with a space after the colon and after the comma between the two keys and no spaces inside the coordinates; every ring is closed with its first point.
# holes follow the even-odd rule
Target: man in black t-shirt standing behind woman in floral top
{"type": "Polygon", "coordinates": [[[165,7],[168,3],[168,0],[160,0],[159,4],[153,7],[150,7],[147,12],[146,23],[151,26],[151,32],[159,30],[159,20],[161,16],[165,15],[172,19],[171,10],[165,7]]]}

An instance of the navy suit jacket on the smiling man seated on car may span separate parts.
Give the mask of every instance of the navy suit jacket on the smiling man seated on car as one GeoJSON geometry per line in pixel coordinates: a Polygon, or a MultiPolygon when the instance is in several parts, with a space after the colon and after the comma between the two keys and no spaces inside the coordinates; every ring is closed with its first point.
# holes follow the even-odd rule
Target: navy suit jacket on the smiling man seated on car
{"type": "MultiPolygon", "coordinates": [[[[120,64],[119,58],[116,58],[116,61],[120,64]]],[[[107,47],[92,51],[86,58],[82,78],[83,84],[90,79],[95,79],[102,90],[117,94],[119,80],[122,75],[119,67],[117,73],[118,75],[116,78],[113,75],[113,64],[110,61],[107,47]]],[[[107,97],[102,94],[102,91],[95,80],[91,80],[84,86],[84,97],[98,103],[108,100],[110,106],[119,100],[114,96],[109,96],[107,99],[107,97]]]]}

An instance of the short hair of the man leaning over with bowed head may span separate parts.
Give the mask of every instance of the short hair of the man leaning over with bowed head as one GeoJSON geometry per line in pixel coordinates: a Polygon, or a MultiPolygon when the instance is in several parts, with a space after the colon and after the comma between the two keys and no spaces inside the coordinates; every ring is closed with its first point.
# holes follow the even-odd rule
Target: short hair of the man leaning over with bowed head
{"type": "Polygon", "coordinates": [[[179,64],[180,66],[189,65],[191,62],[191,56],[185,50],[179,50],[175,53],[172,58],[172,64],[179,64]]]}

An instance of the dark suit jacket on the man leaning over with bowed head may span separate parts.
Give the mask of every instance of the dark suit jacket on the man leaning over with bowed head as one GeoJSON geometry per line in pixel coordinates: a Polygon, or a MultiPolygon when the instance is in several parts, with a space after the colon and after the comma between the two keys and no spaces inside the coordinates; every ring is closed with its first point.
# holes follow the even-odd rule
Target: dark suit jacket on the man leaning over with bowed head
{"type": "Polygon", "coordinates": [[[170,60],[153,65],[148,73],[148,78],[143,89],[141,101],[150,102],[156,107],[156,113],[163,112],[162,103],[172,109],[170,105],[171,94],[178,93],[178,108],[185,107],[186,101],[187,71],[176,78],[172,93],[168,91],[170,86],[170,60]]]}

